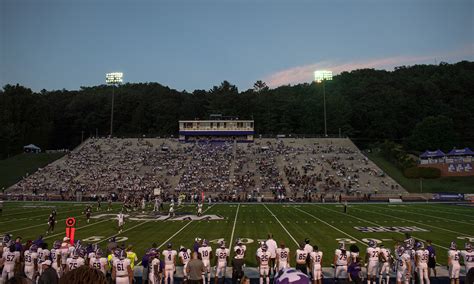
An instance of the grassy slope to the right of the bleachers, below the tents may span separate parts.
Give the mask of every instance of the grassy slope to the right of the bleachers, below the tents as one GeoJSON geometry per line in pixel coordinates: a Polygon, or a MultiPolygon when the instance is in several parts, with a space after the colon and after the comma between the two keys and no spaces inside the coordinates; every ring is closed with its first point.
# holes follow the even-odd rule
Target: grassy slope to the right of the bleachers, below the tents
{"type": "Polygon", "coordinates": [[[396,180],[408,192],[458,192],[474,193],[474,176],[471,177],[442,177],[437,179],[423,179],[422,187],[419,179],[406,178],[402,171],[380,154],[367,155],[386,174],[396,180]]]}

